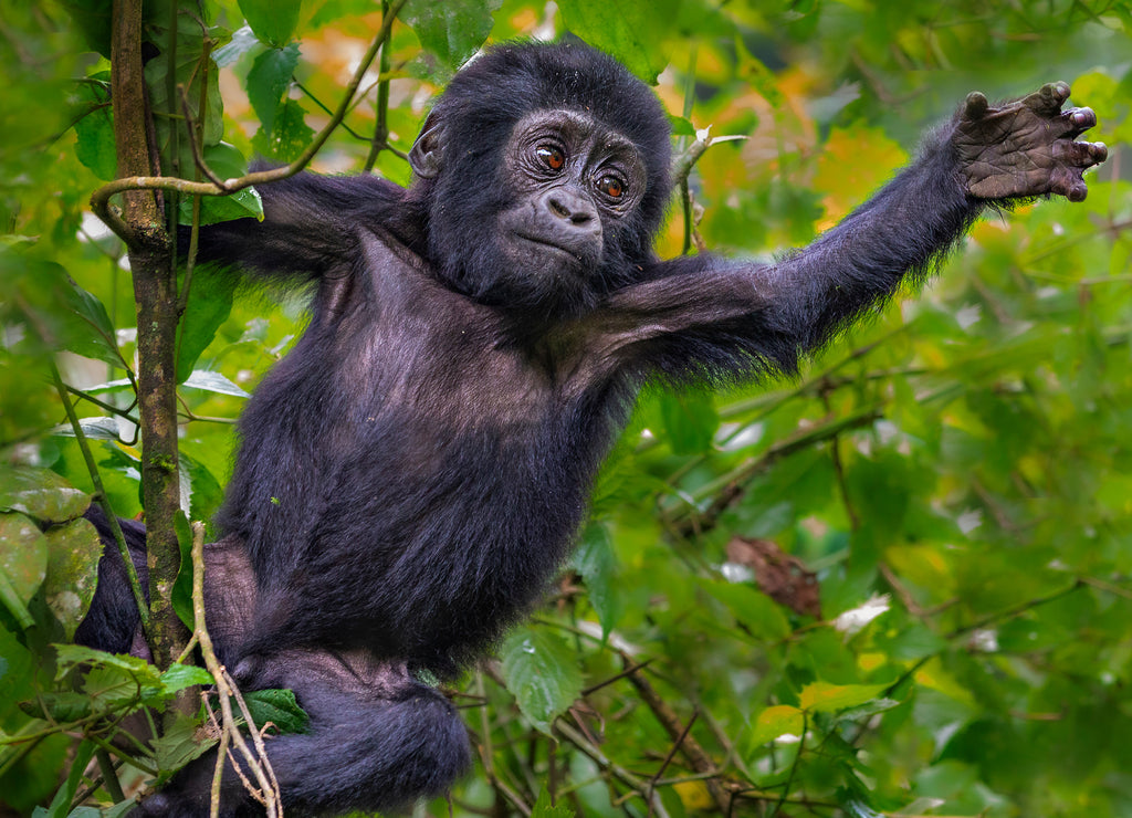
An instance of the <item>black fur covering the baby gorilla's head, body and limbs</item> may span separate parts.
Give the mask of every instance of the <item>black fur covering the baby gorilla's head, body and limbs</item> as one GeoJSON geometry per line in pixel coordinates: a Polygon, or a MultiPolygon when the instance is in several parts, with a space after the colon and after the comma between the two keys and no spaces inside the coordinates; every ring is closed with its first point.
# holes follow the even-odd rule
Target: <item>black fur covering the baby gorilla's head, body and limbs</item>
{"type": "MultiPolygon", "coordinates": [[[[317,284],[310,326],[241,417],[218,520],[230,561],[213,582],[243,587],[209,602],[245,686],[291,686],[311,714],[309,734],[268,742],[288,810],[404,804],[466,768],[460,720],[412,671],[451,679],[540,596],[644,381],[792,373],[927,273],[983,207],[949,139],[928,137],[866,205],[773,265],[661,261],[669,134],[651,91],[583,45],[504,45],[437,102],[409,190],[302,174],[261,189],[263,223],[201,231],[204,261],[317,284]],[[643,167],[626,173],[631,209],[586,212],[597,262],[546,250],[554,275],[504,264],[515,239],[498,226],[526,207],[516,191],[546,187],[505,161],[544,111],[592,131],[591,147],[628,137],[643,167]]],[[[588,179],[561,184],[584,198],[588,179]]],[[[121,649],[132,602],[115,577],[84,636],[121,649]]],[[[146,809],[204,815],[206,764],[146,809]]],[[[224,815],[251,811],[225,781],[224,815]]]]}

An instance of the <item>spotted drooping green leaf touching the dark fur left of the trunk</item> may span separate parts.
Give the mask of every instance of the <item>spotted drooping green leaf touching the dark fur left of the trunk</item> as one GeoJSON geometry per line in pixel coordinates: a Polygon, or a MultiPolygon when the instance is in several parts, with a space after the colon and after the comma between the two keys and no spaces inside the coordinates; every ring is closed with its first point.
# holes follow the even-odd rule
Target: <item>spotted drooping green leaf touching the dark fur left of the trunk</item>
{"type": "Polygon", "coordinates": [[[48,605],[70,639],[94,599],[102,541],[94,526],[82,518],[52,526],[44,537],[48,542],[48,574],[43,592],[48,605]]]}

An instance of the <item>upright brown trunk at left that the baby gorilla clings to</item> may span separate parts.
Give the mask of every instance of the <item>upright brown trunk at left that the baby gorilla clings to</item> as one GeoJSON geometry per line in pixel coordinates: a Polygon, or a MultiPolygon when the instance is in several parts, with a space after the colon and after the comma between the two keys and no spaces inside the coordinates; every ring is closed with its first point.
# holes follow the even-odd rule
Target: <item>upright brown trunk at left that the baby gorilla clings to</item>
{"type": "MultiPolygon", "coordinates": [[[[154,173],[142,60],[142,0],[114,0],[111,85],[118,175],[154,173]]],[[[168,666],[187,639],[171,593],[180,566],[173,520],[180,508],[177,465],[177,281],[169,231],[156,193],[123,193],[122,222],[137,309],[142,501],[149,565],[149,648],[168,666]]]]}

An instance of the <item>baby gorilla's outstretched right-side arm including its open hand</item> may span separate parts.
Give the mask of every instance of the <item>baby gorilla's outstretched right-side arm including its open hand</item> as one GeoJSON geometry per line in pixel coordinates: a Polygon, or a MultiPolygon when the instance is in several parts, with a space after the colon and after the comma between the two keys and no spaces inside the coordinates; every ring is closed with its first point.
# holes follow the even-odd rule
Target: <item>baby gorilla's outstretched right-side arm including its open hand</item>
{"type": "Polygon", "coordinates": [[[711,255],[661,261],[592,322],[607,365],[686,377],[794,372],[799,358],[932,272],[987,207],[1084,198],[1082,172],[1106,156],[1077,141],[1089,109],[1061,110],[1064,83],[992,107],[968,97],[916,161],[809,247],[774,264],[711,255]]]}

